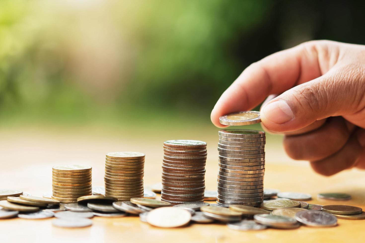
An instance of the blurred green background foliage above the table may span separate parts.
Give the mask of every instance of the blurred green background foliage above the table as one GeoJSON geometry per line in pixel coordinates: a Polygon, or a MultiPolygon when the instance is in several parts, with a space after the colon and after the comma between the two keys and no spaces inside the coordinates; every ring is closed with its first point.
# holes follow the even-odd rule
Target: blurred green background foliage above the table
{"type": "Polygon", "coordinates": [[[312,39],[364,44],[364,1],[0,1],[0,122],[213,126],[242,70],[312,39]]]}

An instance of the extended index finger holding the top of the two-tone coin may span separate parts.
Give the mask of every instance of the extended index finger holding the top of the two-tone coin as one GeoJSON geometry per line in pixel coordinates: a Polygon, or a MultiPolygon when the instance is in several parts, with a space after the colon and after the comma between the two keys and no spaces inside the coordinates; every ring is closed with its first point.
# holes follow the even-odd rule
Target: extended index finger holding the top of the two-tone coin
{"type": "Polygon", "coordinates": [[[251,110],[269,94],[283,93],[296,83],[310,81],[321,75],[317,52],[299,45],[276,52],[251,64],[221,95],[211,113],[217,127],[219,117],[236,111],[251,110]]]}

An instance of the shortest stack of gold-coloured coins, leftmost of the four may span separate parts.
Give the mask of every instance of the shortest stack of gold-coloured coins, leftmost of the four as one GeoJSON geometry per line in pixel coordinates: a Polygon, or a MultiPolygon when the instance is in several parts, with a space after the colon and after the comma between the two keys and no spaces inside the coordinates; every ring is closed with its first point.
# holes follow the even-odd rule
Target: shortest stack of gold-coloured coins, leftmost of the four
{"type": "Polygon", "coordinates": [[[53,166],[52,188],[51,198],[61,203],[76,203],[78,197],[91,195],[91,166],[53,166]]]}

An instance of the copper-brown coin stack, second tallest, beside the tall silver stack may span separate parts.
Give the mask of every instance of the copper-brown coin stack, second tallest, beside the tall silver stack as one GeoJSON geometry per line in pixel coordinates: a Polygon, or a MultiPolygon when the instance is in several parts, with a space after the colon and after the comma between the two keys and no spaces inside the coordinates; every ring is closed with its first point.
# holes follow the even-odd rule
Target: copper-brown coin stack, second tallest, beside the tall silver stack
{"type": "Polygon", "coordinates": [[[161,200],[173,205],[204,200],[207,143],[196,140],[164,142],[161,200]]]}

